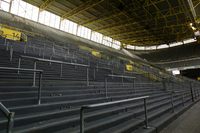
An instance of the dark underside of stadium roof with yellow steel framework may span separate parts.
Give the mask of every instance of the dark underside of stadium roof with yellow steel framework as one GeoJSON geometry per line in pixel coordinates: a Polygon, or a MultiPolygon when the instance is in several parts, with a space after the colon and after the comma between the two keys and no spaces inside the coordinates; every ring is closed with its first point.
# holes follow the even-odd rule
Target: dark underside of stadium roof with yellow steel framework
{"type": "Polygon", "coordinates": [[[24,0],[123,44],[150,46],[194,37],[199,0],[24,0]],[[192,6],[191,3],[192,2],[192,6]],[[196,15],[196,16],[195,16],[196,15]]]}

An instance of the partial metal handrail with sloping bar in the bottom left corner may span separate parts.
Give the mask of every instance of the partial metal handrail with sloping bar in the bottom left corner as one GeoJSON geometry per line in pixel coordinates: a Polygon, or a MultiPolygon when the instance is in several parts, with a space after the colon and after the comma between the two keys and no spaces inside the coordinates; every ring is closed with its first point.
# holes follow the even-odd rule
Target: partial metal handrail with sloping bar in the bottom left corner
{"type": "Polygon", "coordinates": [[[8,119],[7,133],[12,133],[15,112],[10,112],[1,102],[0,102],[0,110],[3,112],[3,114],[8,119]]]}

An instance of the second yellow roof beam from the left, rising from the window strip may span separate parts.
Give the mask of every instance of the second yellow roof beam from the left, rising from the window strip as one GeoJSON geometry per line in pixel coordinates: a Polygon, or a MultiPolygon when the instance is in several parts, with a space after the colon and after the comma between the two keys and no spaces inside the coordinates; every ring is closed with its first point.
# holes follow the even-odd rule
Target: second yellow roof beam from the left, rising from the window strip
{"type": "Polygon", "coordinates": [[[86,2],[82,3],[81,5],[75,7],[74,9],[72,9],[71,11],[66,12],[65,14],[63,14],[61,17],[62,18],[68,18],[71,16],[74,16],[76,14],[79,14],[83,11],[86,11],[98,4],[100,4],[101,2],[103,2],[104,0],[87,0],[86,2]]]}

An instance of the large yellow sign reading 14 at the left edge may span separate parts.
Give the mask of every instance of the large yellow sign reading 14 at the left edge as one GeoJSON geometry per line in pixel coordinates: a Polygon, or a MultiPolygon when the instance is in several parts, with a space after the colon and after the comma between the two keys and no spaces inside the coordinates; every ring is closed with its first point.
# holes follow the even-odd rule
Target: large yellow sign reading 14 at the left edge
{"type": "Polygon", "coordinates": [[[2,26],[0,26],[0,36],[14,41],[27,41],[25,34],[2,26]]]}

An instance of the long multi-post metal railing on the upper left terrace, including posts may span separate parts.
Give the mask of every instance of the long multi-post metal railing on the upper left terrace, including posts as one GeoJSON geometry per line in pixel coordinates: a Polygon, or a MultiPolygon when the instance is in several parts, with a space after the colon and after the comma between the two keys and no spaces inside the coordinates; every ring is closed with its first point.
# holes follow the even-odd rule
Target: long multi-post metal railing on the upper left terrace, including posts
{"type": "MultiPolygon", "coordinates": [[[[60,77],[62,77],[64,64],[72,65],[72,66],[86,67],[86,85],[89,86],[89,67],[90,67],[89,65],[79,64],[79,63],[70,63],[70,62],[64,62],[64,61],[58,61],[58,60],[43,59],[43,58],[37,58],[37,57],[31,57],[31,56],[23,56],[23,55],[21,56],[21,58],[27,58],[27,59],[34,60],[34,69],[36,69],[37,61],[60,64],[60,77]]],[[[19,59],[19,60],[21,60],[21,59],[19,59]]],[[[20,64],[20,62],[19,62],[19,64],[20,64]]],[[[20,66],[20,65],[18,65],[18,66],[20,66]]]]}

